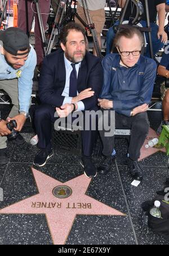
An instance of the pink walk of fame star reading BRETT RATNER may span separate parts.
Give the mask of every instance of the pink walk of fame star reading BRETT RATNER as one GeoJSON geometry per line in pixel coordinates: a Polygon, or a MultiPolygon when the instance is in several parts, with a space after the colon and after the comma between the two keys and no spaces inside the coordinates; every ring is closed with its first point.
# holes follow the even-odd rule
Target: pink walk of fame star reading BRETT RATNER
{"type": "Polygon", "coordinates": [[[39,194],[3,208],[0,214],[45,214],[55,245],[65,244],[77,215],[126,216],[86,195],[91,180],[84,175],[63,184],[33,168],[32,172],[39,194]],[[53,191],[57,186],[61,186],[59,194],[66,194],[66,187],[70,187],[72,194],[56,198],[53,191]]]}

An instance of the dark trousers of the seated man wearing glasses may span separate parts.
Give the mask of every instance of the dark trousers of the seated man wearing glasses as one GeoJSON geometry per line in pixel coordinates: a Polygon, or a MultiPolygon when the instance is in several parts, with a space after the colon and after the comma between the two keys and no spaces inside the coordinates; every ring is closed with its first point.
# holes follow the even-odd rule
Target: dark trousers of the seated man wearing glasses
{"type": "MultiPolygon", "coordinates": [[[[109,118],[110,111],[106,112],[109,118]]],[[[102,120],[99,120],[102,122],[102,120]]],[[[114,125],[112,123],[111,125],[114,125]]],[[[149,120],[146,112],[136,114],[134,117],[126,117],[115,112],[115,127],[128,127],[131,130],[131,139],[128,153],[132,160],[140,158],[140,150],[143,146],[146,136],[149,133],[149,120]]],[[[103,142],[103,155],[111,156],[114,149],[114,136],[106,137],[105,130],[100,131],[101,140],[103,142]]]]}

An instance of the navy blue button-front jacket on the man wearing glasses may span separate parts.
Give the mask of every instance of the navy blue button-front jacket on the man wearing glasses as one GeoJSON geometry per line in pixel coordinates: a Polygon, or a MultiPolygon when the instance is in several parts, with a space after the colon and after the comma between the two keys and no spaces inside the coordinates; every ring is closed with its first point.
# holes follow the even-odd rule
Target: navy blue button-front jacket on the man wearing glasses
{"type": "Polygon", "coordinates": [[[113,110],[130,117],[131,110],[152,99],[157,64],[153,59],[140,56],[134,67],[121,67],[119,54],[103,59],[104,85],[101,99],[113,100],[113,110]]]}

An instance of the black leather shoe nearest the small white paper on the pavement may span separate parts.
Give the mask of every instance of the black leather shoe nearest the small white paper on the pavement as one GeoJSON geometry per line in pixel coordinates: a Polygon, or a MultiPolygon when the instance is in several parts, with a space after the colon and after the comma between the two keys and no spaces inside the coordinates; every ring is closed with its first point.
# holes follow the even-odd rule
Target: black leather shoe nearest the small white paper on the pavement
{"type": "Polygon", "coordinates": [[[133,161],[130,157],[127,157],[127,164],[128,168],[130,169],[131,176],[135,180],[142,180],[143,179],[143,170],[140,167],[138,161],[133,161]]]}

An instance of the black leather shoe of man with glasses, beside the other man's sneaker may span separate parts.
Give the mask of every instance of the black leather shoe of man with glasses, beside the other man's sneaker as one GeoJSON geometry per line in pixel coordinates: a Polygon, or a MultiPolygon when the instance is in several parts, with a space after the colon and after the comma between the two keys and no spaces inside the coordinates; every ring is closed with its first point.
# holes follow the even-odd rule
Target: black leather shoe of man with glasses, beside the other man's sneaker
{"type": "Polygon", "coordinates": [[[112,169],[112,165],[115,161],[115,156],[105,156],[103,160],[99,163],[97,171],[100,174],[106,175],[112,169]]]}

